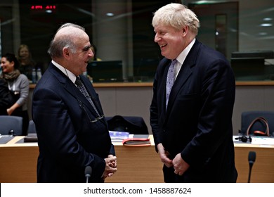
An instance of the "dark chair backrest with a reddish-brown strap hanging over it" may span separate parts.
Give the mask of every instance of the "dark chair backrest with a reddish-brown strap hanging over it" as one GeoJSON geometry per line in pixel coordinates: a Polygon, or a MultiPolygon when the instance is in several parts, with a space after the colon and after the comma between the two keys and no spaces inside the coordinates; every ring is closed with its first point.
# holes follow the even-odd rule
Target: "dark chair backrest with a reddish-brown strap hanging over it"
{"type": "MultiPolygon", "coordinates": [[[[263,111],[263,110],[256,110],[256,111],[245,111],[242,113],[242,120],[241,120],[241,134],[247,134],[247,128],[252,123],[254,119],[257,117],[264,117],[269,126],[269,134],[270,136],[274,136],[274,111],[263,111]]],[[[249,133],[252,134],[254,131],[262,131],[265,132],[266,125],[264,122],[254,122],[254,125],[250,128],[249,133]]]]}

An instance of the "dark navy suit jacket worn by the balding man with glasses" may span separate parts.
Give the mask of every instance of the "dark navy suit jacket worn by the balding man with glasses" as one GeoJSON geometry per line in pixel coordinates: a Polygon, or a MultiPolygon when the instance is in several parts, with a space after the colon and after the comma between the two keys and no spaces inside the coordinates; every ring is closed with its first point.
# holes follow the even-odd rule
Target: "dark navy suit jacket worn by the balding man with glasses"
{"type": "MultiPolygon", "coordinates": [[[[98,94],[81,76],[100,114],[98,94]]],[[[86,182],[84,168],[92,168],[91,182],[103,182],[108,154],[115,155],[105,118],[98,115],[72,81],[50,63],[34,89],[32,117],[37,129],[38,182],[86,182]]]]}

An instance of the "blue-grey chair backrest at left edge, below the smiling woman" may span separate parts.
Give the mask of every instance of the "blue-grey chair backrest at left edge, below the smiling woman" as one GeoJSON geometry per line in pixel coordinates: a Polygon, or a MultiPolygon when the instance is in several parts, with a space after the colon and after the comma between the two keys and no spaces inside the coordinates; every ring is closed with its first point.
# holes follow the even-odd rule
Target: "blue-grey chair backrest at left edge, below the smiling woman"
{"type": "Polygon", "coordinates": [[[22,117],[13,115],[0,115],[0,134],[22,135],[22,117]]]}

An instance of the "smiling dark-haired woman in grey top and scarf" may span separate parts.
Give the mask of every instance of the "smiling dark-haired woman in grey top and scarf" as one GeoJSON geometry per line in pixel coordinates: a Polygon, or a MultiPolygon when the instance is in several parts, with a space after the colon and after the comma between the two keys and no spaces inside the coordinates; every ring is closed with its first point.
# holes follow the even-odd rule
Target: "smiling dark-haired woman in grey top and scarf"
{"type": "Polygon", "coordinates": [[[18,70],[19,63],[13,53],[6,53],[1,58],[1,68],[3,78],[8,82],[8,89],[13,93],[15,103],[8,108],[8,115],[16,115],[23,118],[23,135],[27,134],[29,115],[27,113],[27,98],[29,95],[30,84],[26,75],[18,70]]]}

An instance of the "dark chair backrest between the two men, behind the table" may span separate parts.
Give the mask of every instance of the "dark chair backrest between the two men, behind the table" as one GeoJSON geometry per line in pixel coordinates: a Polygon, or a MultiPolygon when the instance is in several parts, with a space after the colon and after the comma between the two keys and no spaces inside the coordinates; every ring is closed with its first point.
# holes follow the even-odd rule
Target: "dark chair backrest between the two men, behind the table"
{"type": "Polygon", "coordinates": [[[110,131],[129,132],[130,134],[148,134],[143,117],[121,116],[105,117],[110,131]]]}

